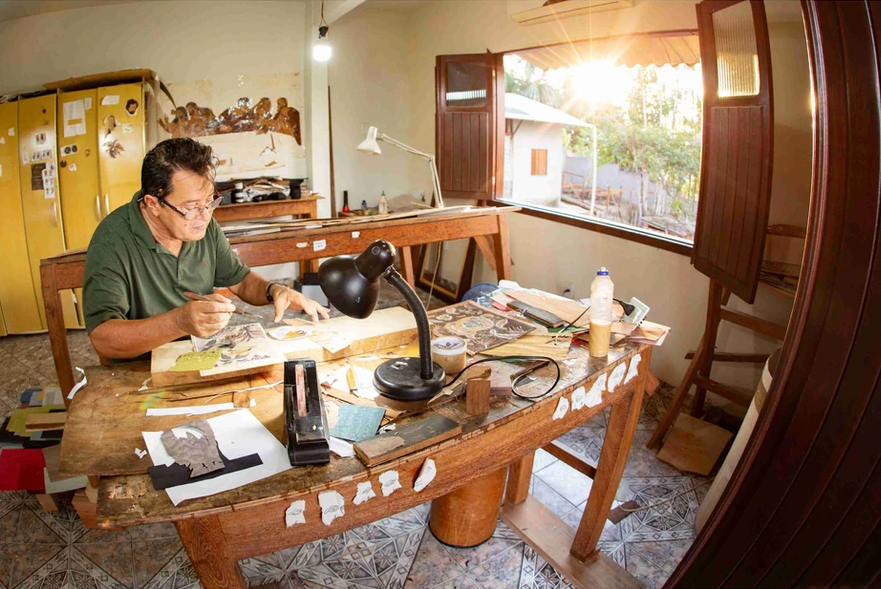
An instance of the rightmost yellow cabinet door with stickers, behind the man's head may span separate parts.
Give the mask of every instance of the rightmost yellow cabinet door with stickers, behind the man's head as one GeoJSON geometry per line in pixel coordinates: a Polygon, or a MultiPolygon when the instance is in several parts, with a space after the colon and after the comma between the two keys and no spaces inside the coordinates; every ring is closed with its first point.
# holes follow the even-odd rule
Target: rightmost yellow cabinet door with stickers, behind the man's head
{"type": "Polygon", "coordinates": [[[98,148],[104,215],[141,188],[144,90],[141,84],[98,88],[98,148]]]}

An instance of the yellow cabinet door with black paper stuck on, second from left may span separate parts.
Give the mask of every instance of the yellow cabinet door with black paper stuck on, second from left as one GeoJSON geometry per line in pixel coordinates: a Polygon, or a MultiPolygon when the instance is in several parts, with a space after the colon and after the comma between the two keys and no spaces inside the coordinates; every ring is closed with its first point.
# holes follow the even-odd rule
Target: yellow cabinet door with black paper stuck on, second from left
{"type": "MultiPolygon", "coordinates": [[[[39,304],[40,328],[46,329],[46,311],[40,286],[40,260],[65,250],[61,206],[58,202],[58,162],[55,141],[55,95],[29,98],[18,103],[18,151],[21,159],[21,204],[27,234],[28,256],[34,291],[39,304]]],[[[77,327],[77,314],[70,292],[62,293],[64,320],[77,327]]]]}

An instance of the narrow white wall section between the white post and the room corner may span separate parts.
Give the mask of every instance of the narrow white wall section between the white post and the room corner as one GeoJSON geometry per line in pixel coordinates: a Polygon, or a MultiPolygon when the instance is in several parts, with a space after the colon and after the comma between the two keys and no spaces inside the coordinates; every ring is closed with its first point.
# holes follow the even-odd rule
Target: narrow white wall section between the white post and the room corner
{"type": "MultiPolygon", "coordinates": [[[[408,14],[362,4],[331,26],[334,56],[329,63],[333,110],[333,159],[337,208],[343,190],[353,208],[375,206],[382,191],[392,199],[408,194],[410,163],[423,160],[385,142],[382,155],[355,148],[373,125],[403,143],[410,142],[407,61],[408,14]]],[[[432,150],[433,151],[433,150],[432,150]]],[[[415,173],[429,178],[423,164],[415,173]]]]}

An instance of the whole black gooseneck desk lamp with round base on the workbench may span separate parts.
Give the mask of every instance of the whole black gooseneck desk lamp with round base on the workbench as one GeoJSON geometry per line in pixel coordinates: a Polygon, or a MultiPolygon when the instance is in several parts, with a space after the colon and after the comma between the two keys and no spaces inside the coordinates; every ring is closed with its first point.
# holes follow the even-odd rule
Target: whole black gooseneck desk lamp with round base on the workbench
{"type": "Polygon", "coordinates": [[[365,319],[373,313],[379,298],[379,279],[404,295],[416,317],[419,357],[394,358],[380,364],[373,373],[373,386],[381,395],[396,401],[424,401],[444,386],[444,369],[431,361],[431,330],[422,301],[395,270],[395,246],[378,239],[358,256],[336,256],[318,268],[318,282],[327,300],[341,313],[365,319]]]}

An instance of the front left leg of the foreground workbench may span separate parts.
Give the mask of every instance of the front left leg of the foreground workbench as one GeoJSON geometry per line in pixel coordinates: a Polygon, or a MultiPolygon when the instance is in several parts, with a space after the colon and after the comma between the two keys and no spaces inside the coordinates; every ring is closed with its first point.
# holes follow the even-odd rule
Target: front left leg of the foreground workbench
{"type": "Polygon", "coordinates": [[[247,589],[217,516],[178,520],[174,525],[205,589],[247,589]]]}

